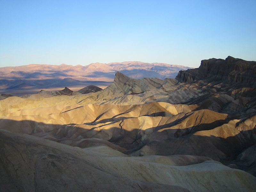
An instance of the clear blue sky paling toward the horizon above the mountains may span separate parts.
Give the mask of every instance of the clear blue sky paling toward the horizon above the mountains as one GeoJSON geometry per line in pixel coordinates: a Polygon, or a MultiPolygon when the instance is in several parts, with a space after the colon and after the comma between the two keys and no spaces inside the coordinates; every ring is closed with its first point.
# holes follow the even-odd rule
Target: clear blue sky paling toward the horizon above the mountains
{"type": "Polygon", "coordinates": [[[256,0],[0,0],[0,67],[256,60],[256,0]]]}

